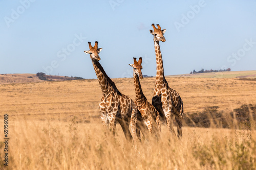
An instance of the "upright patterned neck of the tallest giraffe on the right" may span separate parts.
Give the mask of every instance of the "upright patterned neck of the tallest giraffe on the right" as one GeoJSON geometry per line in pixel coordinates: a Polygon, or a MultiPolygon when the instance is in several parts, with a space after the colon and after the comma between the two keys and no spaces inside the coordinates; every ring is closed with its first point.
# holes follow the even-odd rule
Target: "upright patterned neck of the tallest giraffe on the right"
{"type": "Polygon", "coordinates": [[[157,59],[157,75],[156,75],[156,82],[161,84],[165,82],[164,74],[163,74],[163,59],[160,50],[160,45],[158,41],[155,42],[155,52],[156,52],[156,59],[157,59]]]}

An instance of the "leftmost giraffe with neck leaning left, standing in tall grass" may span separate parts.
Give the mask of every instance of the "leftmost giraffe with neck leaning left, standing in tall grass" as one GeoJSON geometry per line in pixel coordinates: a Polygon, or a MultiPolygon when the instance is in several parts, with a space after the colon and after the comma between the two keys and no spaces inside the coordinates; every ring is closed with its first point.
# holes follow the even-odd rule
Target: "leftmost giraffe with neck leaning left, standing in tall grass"
{"type": "Polygon", "coordinates": [[[99,63],[99,53],[102,48],[98,48],[98,42],[95,41],[95,45],[92,46],[89,43],[89,51],[84,51],[86,54],[90,54],[93,67],[98,78],[102,98],[99,103],[101,122],[105,129],[109,129],[115,136],[116,121],[122,127],[123,133],[127,140],[136,140],[138,136],[137,132],[137,114],[138,109],[131,98],[122,94],[116,87],[115,83],[106,75],[103,67],[99,63]],[[132,134],[129,130],[129,123],[131,126],[132,134]]]}

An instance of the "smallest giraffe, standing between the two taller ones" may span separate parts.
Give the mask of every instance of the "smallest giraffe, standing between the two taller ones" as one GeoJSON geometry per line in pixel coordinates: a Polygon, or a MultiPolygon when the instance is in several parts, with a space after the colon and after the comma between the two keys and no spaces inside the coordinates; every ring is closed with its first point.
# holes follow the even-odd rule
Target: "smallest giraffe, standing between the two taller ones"
{"type": "Polygon", "coordinates": [[[136,92],[135,104],[137,105],[137,108],[141,113],[141,116],[142,116],[141,122],[143,122],[146,125],[147,130],[148,132],[150,132],[150,134],[153,133],[153,129],[154,131],[157,131],[155,129],[156,126],[158,128],[158,132],[160,132],[161,131],[160,115],[156,110],[156,108],[152,104],[147,102],[147,99],[143,94],[143,91],[140,85],[139,79],[143,79],[143,75],[141,72],[142,58],[140,57],[138,62],[136,61],[136,58],[133,58],[133,59],[134,59],[134,64],[129,64],[129,65],[133,67],[134,86],[135,86],[135,92],[136,92]]]}

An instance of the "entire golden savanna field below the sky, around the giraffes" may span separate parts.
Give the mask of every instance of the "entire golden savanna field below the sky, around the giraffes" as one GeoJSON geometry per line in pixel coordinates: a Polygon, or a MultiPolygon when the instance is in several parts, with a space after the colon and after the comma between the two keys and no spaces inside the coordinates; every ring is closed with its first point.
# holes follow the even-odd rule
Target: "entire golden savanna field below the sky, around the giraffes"
{"type": "MultiPolygon", "coordinates": [[[[138,143],[126,141],[120,125],[115,137],[104,133],[98,80],[6,81],[2,75],[0,169],[256,169],[256,81],[232,72],[166,76],[183,100],[183,138],[168,137],[162,124],[159,140],[138,143]],[[4,114],[8,167],[2,161],[4,114]]],[[[133,78],[112,80],[135,100],[133,78]]],[[[141,80],[150,103],[154,82],[141,80]]]]}

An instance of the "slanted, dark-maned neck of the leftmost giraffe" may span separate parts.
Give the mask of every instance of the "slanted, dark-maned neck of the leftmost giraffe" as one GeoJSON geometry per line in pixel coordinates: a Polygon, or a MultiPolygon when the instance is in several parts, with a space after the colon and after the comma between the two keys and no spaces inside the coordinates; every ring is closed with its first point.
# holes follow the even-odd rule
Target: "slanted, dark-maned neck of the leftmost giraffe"
{"type": "Polygon", "coordinates": [[[121,93],[116,88],[115,83],[109,78],[108,75],[106,75],[106,72],[104,71],[99,61],[92,60],[92,62],[93,62],[93,67],[94,67],[96,76],[98,78],[102,92],[105,94],[108,94],[111,88],[113,88],[118,94],[121,95],[121,93]]]}

